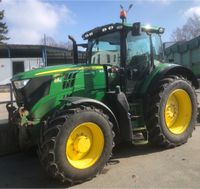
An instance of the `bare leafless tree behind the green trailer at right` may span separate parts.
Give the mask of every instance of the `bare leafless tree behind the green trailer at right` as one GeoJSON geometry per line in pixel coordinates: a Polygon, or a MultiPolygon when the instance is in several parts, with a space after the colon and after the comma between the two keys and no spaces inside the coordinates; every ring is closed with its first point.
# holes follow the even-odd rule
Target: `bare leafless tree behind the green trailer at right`
{"type": "Polygon", "coordinates": [[[200,36],[200,16],[194,14],[187,19],[182,28],[176,28],[171,39],[173,41],[188,41],[197,36],[200,36]]]}

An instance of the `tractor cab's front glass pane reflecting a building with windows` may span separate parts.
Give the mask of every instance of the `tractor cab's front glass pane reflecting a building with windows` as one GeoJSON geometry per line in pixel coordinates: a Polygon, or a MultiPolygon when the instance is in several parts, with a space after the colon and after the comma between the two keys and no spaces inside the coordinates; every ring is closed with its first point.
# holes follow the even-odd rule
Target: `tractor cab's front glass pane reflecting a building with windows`
{"type": "Polygon", "coordinates": [[[114,32],[90,40],[88,43],[90,64],[120,65],[120,33],[114,32]]]}

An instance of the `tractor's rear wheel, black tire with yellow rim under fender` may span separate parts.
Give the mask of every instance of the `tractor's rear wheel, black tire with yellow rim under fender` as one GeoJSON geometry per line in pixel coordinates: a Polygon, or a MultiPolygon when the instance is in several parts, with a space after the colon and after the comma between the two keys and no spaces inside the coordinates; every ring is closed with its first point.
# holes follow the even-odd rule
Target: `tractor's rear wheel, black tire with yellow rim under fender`
{"type": "Polygon", "coordinates": [[[150,143],[170,148],[187,142],[197,119],[197,97],[189,81],[168,76],[151,90],[146,105],[150,143]]]}

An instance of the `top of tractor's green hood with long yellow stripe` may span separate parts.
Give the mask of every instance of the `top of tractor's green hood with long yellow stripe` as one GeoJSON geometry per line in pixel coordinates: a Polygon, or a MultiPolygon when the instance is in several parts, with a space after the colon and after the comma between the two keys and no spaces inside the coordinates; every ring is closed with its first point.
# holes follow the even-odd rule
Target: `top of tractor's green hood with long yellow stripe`
{"type": "Polygon", "coordinates": [[[44,68],[38,68],[35,70],[19,73],[14,75],[11,81],[19,81],[37,78],[41,76],[51,76],[56,74],[61,74],[62,72],[68,71],[79,71],[79,70],[88,70],[88,69],[102,69],[102,66],[97,65],[86,65],[86,64],[68,64],[68,65],[59,65],[59,66],[49,66],[44,68]]]}

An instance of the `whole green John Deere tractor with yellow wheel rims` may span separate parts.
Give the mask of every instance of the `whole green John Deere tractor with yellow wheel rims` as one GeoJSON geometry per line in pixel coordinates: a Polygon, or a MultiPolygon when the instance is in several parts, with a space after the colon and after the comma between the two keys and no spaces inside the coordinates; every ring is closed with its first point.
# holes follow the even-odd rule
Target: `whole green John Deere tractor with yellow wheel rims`
{"type": "Polygon", "coordinates": [[[42,166],[60,181],[93,178],[114,145],[150,142],[171,148],[195,128],[198,82],[166,64],[164,29],[116,23],[86,32],[87,62],[40,68],[12,78],[17,107],[8,105],[19,146],[38,145],[42,166]]]}

